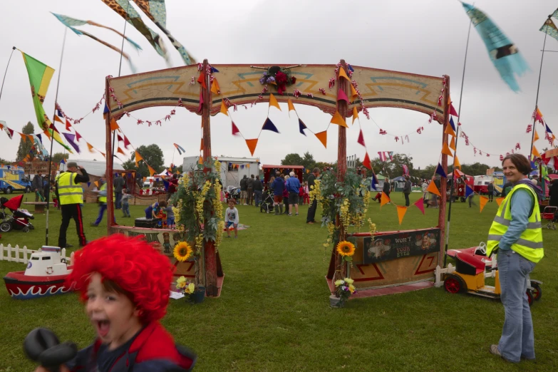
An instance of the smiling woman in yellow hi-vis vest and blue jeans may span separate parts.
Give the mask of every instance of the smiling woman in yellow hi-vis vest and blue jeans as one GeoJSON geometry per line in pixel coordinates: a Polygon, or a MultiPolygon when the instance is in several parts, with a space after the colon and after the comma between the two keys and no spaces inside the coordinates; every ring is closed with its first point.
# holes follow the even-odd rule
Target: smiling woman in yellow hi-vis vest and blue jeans
{"type": "Polygon", "coordinates": [[[539,198],[542,190],[528,178],[531,165],[520,154],[507,155],[502,162],[513,188],[500,204],[490,227],[487,257],[497,252],[505,321],[502,337],[490,352],[506,361],[534,361],[534,334],[527,301],[527,283],[534,265],[542,259],[542,229],[539,198]]]}

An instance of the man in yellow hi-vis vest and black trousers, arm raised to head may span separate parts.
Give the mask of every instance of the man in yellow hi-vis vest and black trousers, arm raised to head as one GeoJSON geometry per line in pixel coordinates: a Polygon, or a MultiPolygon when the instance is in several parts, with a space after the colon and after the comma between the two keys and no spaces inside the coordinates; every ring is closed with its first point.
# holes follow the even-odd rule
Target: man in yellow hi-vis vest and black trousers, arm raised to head
{"type": "Polygon", "coordinates": [[[58,235],[58,247],[71,248],[71,244],[66,243],[66,230],[70,224],[70,219],[76,221],[76,229],[78,230],[79,245],[86,245],[86,234],[83,232],[83,214],[81,205],[83,204],[83,189],[81,182],[89,182],[89,175],[83,167],[79,167],[81,175],[78,172],[78,164],[76,162],[68,162],[66,172],[62,172],[56,176],[56,196],[61,205],[62,224],[60,225],[60,234],[58,235]]]}

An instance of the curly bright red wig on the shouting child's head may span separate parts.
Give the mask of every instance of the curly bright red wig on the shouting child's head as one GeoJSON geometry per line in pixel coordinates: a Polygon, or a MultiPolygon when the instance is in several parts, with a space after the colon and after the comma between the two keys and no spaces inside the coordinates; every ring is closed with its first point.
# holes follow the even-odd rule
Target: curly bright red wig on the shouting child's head
{"type": "Polygon", "coordinates": [[[165,316],[172,282],[170,260],[140,237],[113,234],[89,243],[74,254],[66,286],[73,284],[87,299],[91,274],[120,286],[140,310],[140,321],[148,324],[165,316]]]}

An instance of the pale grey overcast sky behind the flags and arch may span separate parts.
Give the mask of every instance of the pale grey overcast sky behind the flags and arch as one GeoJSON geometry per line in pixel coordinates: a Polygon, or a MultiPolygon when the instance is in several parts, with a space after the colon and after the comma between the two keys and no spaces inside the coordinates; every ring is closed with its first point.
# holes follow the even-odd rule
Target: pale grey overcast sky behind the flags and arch
{"type": "MultiPolygon", "coordinates": [[[[393,0],[393,1],[331,1],[284,0],[280,6],[272,1],[215,0],[208,7],[205,1],[167,0],[167,29],[198,61],[207,58],[210,63],[249,63],[267,65],[274,63],[332,63],[344,58],[356,66],[368,66],[394,71],[404,71],[430,76],[450,76],[450,90],[455,108],[460,100],[463,57],[467,40],[469,18],[456,0],[393,0]]],[[[475,29],[470,36],[467,71],[463,90],[461,122],[472,143],[483,153],[501,154],[520,142],[522,152],[529,149],[530,134],[525,128],[531,120],[537,93],[537,79],[544,33],[538,31],[548,14],[557,8],[558,1],[537,0],[478,0],[475,2],[491,17],[520,49],[531,71],[519,79],[522,92],[513,93],[492,66],[484,43],[475,29]]],[[[56,69],[44,107],[49,117],[53,113],[56,81],[60,63],[65,26],[49,12],[64,14],[76,19],[91,20],[123,29],[123,19],[100,0],[18,0],[11,1],[2,11],[0,38],[0,73],[4,73],[11,53],[16,46],[29,55],[56,69]]],[[[138,9],[139,11],[139,9],[138,9]]],[[[143,13],[140,12],[143,15],[143,13]]],[[[146,16],[144,21],[155,31],[157,26],[146,16]]],[[[555,20],[555,22],[557,22],[555,20]]],[[[111,31],[93,26],[83,26],[109,43],[120,47],[121,38],[111,31]]],[[[160,32],[159,32],[160,33],[160,32]]],[[[160,33],[162,34],[162,33],[160,33]]],[[[148,41],[128,25],[126,35],[143,47],[135,53],[125,44],[137,72],[167,68],[163,58],[148,41]]],[[[164,37],[164,36],[163,36],[164,37]]],[[[172,66],[181,66],[182,59],[165,39],[172,56],[172,66]]],[[[558,41],[547,38],[547,50],[558,51],[558,41]]],[[[86,115],[100,100],[105,88],[105,76],[118,76],[120,54],[87,38],[68,32],[66,51],[61,68],[58,103],[72,118],[86,115]]],[[[549,127],[558,133],[558,105],[556,82],[558,53],[545,53],[539,94],[539,108],[549,127]]],[[[122,75],[130,74],[123,63],[122,75]]],[[[218,76],[217,76],[218,77],[218,76]]],[[[266,132],[260,137],[254,157],[263,163],[279,163],[287,153],[302,154],[306,150],[318,161],[335,161],[337,158],[337,127],[328,132],[328,148],[313,135],[299,134],[296,118],[272,108],[270,118],[281,134],[266,132]]],[[[138,118],[157,120],[170,108],[148,108],[134,113],[138,118]]],[[[304,123],[314,132],[325,130],[331,115],[317,108],[299,105],[296,108],[304,123]]],[[[267,114],[267,105],[233,113],[235,123],[246,138],[254,138],[267,114]]],[[[394,151],[413,157],[415,167],[424,167],[438,161],[442,129],[438,124],[428,124],[428,116],[415,111],[395,108],[370,110],[371,120],[361,115],[364,139],[371,157],[378,151],[394,151]],[[378,135],[379,125],[395,135],[413,133],[410,143],[401,145],[389,135],[378,135]],[[416,128],[425,131],[418,135],[416,128]]],[[[4,92],[0,100],[0,120],[5,120],[13,130],[31,120],[36,124],[33,101],[29,92],[29,78],[21,53],[15,52],[6,75],[4,92]]],[[[123,128],[130,142],[138,147],[157,143],[163,150],[167,165],[172,161],[178,143],[187,155],[198,155],[200,146],[200,116],[186,110],[177,110],[170,122],[162,127],[136,125],[135,120],[123,118],[123,128]]],[[[76,125],[83,138],[103,150],[105,146],[102,110],[88,115],[76,125]]],[[[250,157],[242,138],[230,134],[229,118],[217,115],[211,118],[212,154],[250,157]]],[[[535,145],[548,147],[544,130],[539,125],[539,140],[535,145]]],[[[364,149],[356,143],[358,125],[347,132],[347,155],[364,157],[364,149]]],[[[83,151],[73,158],[102,160],[100,154],[83,151]]],[[[9,140],[0,133],[0,157],[14,159],[19,136],[9,140]]],[[[473,154],[472,145],[459,142],[460,162],[486,162],[497,165],[497,157],[480,157],[473,154]]],[[[54,151],[62,148],[55,143],[54,151]]],[[[104,150],[103,150],[104,151],[104,150]]],[[[128,155],[128,154],[127,154],[128,155]]],[[[125,160],[126,157],[123,157],[125,160]]],[[[181,164],[175,153],[175,163],[181,164]]]]}

